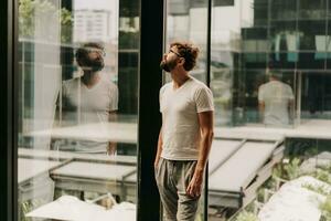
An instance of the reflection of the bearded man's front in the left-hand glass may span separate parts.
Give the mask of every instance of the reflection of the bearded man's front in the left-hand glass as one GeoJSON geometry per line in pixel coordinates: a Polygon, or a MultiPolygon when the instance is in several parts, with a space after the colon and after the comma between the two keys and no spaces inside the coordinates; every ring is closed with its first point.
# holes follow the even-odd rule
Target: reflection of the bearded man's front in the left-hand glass
{"type": "MultiPolygon", "coordinates": [[[[115,120],[118,88],[100,71],[104,69],[104,49],[97,43],[86,43],[77,49],[75,57],[83,75],[63,83],[64,124],[84,125],[115,120]]],[[[102,129],[102,124],[99,129],[102,129]]],[[[90,131],[92,134],[98,130],[90,131]]],[[[74,143],[74,149],[86,152],[114,154],[116,144],[86,137],[74,143]]]]}

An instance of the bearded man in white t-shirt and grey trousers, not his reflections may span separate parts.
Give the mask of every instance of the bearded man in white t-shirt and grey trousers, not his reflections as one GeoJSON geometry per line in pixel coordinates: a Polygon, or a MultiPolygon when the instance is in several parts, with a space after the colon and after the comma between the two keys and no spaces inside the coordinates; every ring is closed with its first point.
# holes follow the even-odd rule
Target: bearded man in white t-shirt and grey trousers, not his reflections
{"type": "Polygon", "coordinates": [[[199,50],[174,42],[160,66],[172,82],[160,90],[162,127],[154,160],[156,180],[167,221],[193,221],[213,139],[213,95],[189,72],[199,50]]]}

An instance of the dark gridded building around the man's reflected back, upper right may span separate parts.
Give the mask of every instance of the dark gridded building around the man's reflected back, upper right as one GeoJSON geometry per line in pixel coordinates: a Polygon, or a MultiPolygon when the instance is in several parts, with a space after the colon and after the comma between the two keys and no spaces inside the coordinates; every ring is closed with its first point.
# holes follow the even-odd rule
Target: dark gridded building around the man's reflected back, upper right
{"type": "Polygon", "coordinates": [[[254,25],[242,29],[244,48],[239,75],[243,75],[241,81],[245,82],[246,91],[239,97],[245,101],[246,123],[252,119],[250,110],[257,110],[256,103],[249,102],[255,96],[249,88],[255,87],[254,84],[258,78],[264,78],[265,70],[270,66],[286,70],[289,73],[286,76],[297,94],[296,97],[302,98],[301,106],[297,106],[301,116],[297,116],[297,119],[328,118],[330,107],[319,104],[330,103],[328,96],[321,96],[327,93],[322,81],[329,80],[322,77],[328,74],[329,63],[329,33],[323,15],[327,12],[325,8],[325,1],[316,4],[307,0],[254,1],[254,25]],[[265,44],[261,44],[263,42],[265,44]],[[296,74],[298,72],[302,75],[296,74]],[[256,73],[255,77],[252,73],[256,73]],[[321,76],[318,77],[317,74],[321,76]],[[302,77],[300,81],[299,76],[302,77]],[[300,82],[302,85],[299,85],[300,82]],[[320,113],[319,116],[314,114],[316,112],[320,113]]]}

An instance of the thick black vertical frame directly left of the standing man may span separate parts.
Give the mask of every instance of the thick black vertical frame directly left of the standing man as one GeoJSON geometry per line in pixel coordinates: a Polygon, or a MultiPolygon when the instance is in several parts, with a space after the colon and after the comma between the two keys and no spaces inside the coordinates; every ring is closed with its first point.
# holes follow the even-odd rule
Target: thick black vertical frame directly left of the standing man
{"type": "Polygon", "coordinates": [[[138,102],[138,221],[160,220],[160,198],[154,181],[161,114],[159,90],[162,72],[159,63],[163,42],[163,0],[140,1],[140,53],[138,102]]]}

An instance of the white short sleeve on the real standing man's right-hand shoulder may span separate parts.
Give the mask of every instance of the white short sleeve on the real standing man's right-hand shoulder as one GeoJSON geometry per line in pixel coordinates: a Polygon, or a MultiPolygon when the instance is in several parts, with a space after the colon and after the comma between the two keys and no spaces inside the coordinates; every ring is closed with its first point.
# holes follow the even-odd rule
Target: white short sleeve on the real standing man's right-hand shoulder
{"type": "Polygon", "coordinates": [[[214,110],[213,93],[207,87],[200,87],[194,94],[196,113],[214,110]]]}

